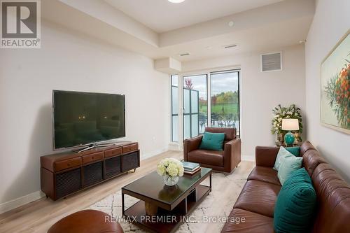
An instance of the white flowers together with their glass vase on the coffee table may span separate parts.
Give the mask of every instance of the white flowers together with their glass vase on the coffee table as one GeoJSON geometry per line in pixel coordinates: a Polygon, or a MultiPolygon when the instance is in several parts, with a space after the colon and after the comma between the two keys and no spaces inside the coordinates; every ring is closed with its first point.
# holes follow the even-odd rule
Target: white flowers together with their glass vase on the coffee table
{"type": "Polygon", "coordinates": [[[183,164],[174,158],[160,160],[157,166],[157,173],[162,176],[165,185],[173,186],[183,176],[183,164]]]}

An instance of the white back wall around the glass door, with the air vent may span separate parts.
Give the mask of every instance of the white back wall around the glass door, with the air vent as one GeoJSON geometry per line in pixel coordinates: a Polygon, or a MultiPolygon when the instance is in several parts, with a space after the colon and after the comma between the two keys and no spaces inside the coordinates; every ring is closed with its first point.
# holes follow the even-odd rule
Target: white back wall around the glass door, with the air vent
{"type": "MultiPolygon", "coordinates": [[[[275,136],[270,132],[272,108],[281,104],[296,104],[305,110],[304,46],[253,52],[216,59],[183,62],[183,71],[241,68],[241,140],[243,159],[255,157],[255,146],[273,146],[275,136]],[[260,72],[260,54],[283,52],[283,70],[260,72]]],[[[305,126],[304,126],[305,127],[305,126]]]]}

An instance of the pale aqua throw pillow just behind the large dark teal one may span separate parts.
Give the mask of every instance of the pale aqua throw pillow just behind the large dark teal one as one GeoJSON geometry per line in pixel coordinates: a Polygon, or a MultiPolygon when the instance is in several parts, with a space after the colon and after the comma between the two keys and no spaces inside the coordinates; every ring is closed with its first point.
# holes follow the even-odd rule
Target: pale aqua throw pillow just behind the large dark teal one
{"type": "Polygon", "coordinates": [[[283,185],[293,171],[300,169],[300,167],[302,167],[302,157],[295,157],[294,155],[283,157],[281,160],[281,167],[279,167],[279,172],[277,173],[281,185],[283,185]]]}

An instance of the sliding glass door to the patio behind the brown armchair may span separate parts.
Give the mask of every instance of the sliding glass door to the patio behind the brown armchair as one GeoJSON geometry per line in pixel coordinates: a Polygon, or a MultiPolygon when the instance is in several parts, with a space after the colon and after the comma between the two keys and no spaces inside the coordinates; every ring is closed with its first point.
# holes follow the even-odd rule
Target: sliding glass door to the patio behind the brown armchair
{"type": "Polygon", "coordinates": [[[239,70],[203,73],[172,76],[174,142],[203,134],[205,127],[235,127],[239,134],[239,70]]]}

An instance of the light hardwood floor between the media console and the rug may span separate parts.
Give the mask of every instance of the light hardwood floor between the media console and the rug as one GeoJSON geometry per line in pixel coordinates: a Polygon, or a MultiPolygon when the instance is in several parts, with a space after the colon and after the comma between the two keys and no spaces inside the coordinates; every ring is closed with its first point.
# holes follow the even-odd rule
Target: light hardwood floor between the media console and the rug
{"type": "MultiPolygon", "coordinates": [[[[167,151],[160,155],[141,160],[141,167],[135,173],[119,176],[65,199],[53,202],[51,199],[39,199],[18,209],[0,215],[0,232],[47,232],[59,219],[71,213],[86,209],[104,197],[117,192],[124,185],[153,171],[160,159],[176,157],[182,159],[179,151],[167,151]]],[[[244,169],[251,169],[252,162],[242,162],[244,169]]]]}

